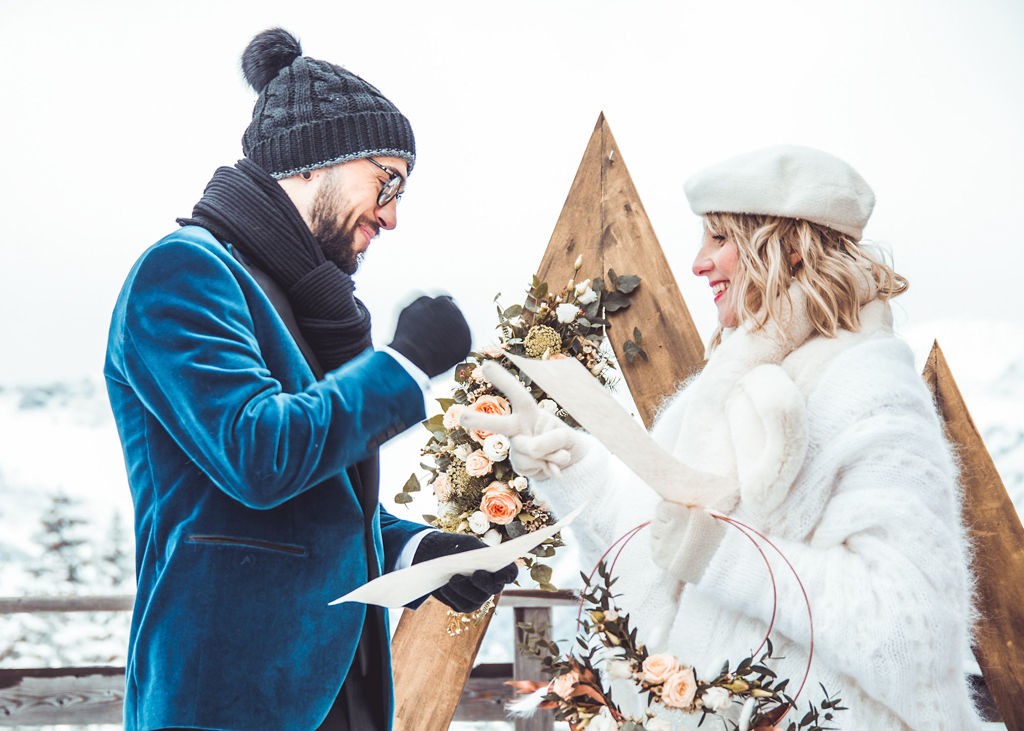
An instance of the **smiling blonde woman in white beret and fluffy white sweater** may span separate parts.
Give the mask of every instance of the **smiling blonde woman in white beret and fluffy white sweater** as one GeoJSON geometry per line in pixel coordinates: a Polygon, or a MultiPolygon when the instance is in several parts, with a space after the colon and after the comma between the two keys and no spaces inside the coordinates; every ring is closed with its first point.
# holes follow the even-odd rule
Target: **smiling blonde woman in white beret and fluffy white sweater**
{"type": "MultiPolygon", "coordinates": [[[[703,217],[693,273],[711,286],[720,328],[652,433],[728,485],[708,507],[767,535],[802,579],[814,649],[801,705],[820,701],[820,683],[849,708],[836,719],[848,731],[980,727],[964,677],[973,616],[955,462],[893,335],[888,300],[907,283],[860,244],[870,188],[830,155],[776,146],[685,189],[703,217]]],[[[634,540],[615,568],[649,650],[702,679],[746,657],[772,612],[751,542],[703,510],[659,502],[591,437],[524,411],[477,421],[512,435],[513,466],[557,512],[591,506],[573,527],[585,563],[652,520],[650,541],[634,540]]],[[[800,586],[773,565],[773,666],[793,693],[811,636],[800,586]]],[[[670,717],[689,728],[700,714],[670,717]]]]}

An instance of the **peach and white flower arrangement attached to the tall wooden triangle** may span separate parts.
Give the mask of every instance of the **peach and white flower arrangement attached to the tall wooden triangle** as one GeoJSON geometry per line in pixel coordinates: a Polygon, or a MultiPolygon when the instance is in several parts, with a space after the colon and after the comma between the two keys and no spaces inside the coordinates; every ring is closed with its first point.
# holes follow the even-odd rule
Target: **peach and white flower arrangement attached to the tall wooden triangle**
{"type": "MultiPolygon", "coordinates": [[[[507,309],[498,306],[499,342],[456,368],[455,388],[451,398],[437,399],[441,413],[423,424],[430,437],[421,449],[426,460],[426,485],[437,500],[437,515],[425,515],[431,525],[447,532],[477,535],[484,543],[497,545],[554,522],[548,507],[529,488],[529,480],[516,474],[509,462],[509,437],[481,430],[463,429],[460,414],[465,410],[484,414],[510,414],[509,402],[487,383],[480,365],[498,360],[515,372],[506,353],[535,358],[578,358],[602,384],[614,383],[613,355],[605,340],[607,321],[604,313],[629,306],[631,295],[640,284],[635,275],[607,272],[601,277],[577,281],[582,266],[577,259],[572,278],[565,288],[552,292],[536,275],[527,291],[525,304],[507,309]]],[[[497,303],[498,297],[495,298],[497,303]]],[[[627,343],[628,357],[645,357],[641,336],[627,343]]],[[[571,417],[525,376],[520,376],[542,408],[549,410],[571,426],[571,417]]],[[[421,480],[413,473],[395,496],[395,502],[409,504],[421,489],[421,480]]],[[[551,567],[538,559],[554,556],[561,546],[559,535],[534,549],[532,557],[523,559],[530,577],[545,590],[551,584],[551,567]]]]}

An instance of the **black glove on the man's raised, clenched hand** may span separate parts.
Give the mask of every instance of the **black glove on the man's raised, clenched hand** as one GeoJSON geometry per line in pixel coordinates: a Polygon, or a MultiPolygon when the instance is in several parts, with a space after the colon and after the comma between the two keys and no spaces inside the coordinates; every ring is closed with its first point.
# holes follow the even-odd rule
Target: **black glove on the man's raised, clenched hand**
{"type": "Polygon", "coordinates": [[[390,347],[430,378],[469,354],[469,326],[451,297],[424,295],[398,315],[390,347]]]}

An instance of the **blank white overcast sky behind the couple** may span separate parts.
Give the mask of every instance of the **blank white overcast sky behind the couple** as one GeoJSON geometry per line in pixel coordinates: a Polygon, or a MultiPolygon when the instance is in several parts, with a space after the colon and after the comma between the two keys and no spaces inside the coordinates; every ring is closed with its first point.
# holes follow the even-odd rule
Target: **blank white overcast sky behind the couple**
{"type": "Polygon", "coordinates": [[[380,341],[416,289],[452,292],[489,340],[602,111],[705,335],[682,181],[777,142],[873,186],[866,236],[911,282],[902,327],[1024,324],[1018,0],[0,0],[0,384],[98,375],[132,262],[241,156],[239,56],[278,25],[417,134],[399,226],[357,277],[380,341]]]}

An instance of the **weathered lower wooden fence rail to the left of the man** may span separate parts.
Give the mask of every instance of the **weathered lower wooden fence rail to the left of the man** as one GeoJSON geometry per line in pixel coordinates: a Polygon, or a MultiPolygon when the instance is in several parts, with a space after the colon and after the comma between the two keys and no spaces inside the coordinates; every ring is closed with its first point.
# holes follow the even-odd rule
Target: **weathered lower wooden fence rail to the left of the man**
{"type": "Polygon", "coordinates": [[[0,726],[119,724],[124,668],[0,671],[0,726]]]}

